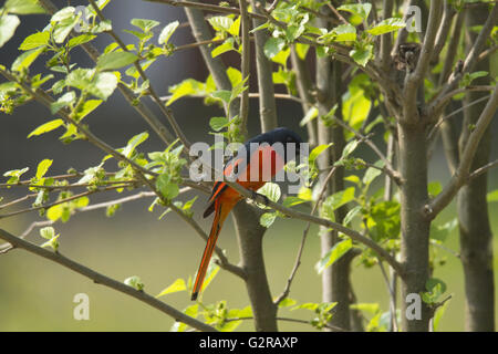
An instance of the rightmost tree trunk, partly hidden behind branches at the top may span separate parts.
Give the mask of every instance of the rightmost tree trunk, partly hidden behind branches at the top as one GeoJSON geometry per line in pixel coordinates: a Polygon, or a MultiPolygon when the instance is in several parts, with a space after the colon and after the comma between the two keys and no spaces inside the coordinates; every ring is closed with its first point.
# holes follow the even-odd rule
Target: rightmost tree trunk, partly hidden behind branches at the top
{"type": "MultiPolygon", "coordinates": [[[[481,24],[488,17],[488,7],[479,7],[467,11],[467,29],[481,24]]],[[[466,33],[468,45],[471,45],[477,34],[466,33]]],[[[489,60],[477,63],[474,71],[488,71],[489,60]]],[[[476,85],[489,85],[489,76],[473,82],[476,85]]],[[[467,105],[487,93],[470,92],[464,104],[467,105]]],[[[459,150],[465,148],[470,134],[469,126],[475,124],[483,112],[486,102],[464,110],[464,127],[459,139],[459,150]]],[[[485,133],[474,157],[471,170],[483,167],[489,162],[490,131],[485,133]]],[[[492,232],[489,223],[487,195],[487,174],[473,179],[458,192],[458,221],[460,233],[460,257],[465,274],[466,293],[466,330],[495,331],[495,283],[492,271],[492,232]]]]}

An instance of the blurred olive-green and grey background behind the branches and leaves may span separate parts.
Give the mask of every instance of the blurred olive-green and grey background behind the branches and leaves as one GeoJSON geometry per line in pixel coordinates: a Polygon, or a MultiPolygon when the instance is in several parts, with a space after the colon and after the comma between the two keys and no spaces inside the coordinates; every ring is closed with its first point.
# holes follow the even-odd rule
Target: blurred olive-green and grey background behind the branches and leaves
{"type": "MultiPolygon", "coordinates": [[[[129,20],[147,18],[168,23],[173,20],[185,21],[180,9],[152,4],[136,0],[112,1],[106,14],[113,19],[113,27],[127,42],[132,38],[121,32],[129,28],[129,20]]],[[[68,1],[58,0],[59,7],[68,1]]],[[[86,4],[86,1],[71,1],[71,4],[86,4]]],[[[17,48],[22,39],[34,30],[45,25],[46,18],[23,18],[18,29],[17,38],[1,50],[2,64],[10,64],[19,55],[17,48]],[[6,55],[7,53],[7,55],[6,55]]],[[[175,34],[175,44],[191,42],[188,29],[179,30],[175,34]]],[[[105,48],[110,40],[98,40],[100,49],[105,48]]],[[[81,54],[81,53],[80,53],[81,54]]],[[[495,55],[496,58],[496,55],[495,55]]],[[[229,56],[229,63],[239,65],[236,56],[229,56]]],[[[91,63],[84,55],[75,55],[84,67],[91,63]]],[[[42,67],[42,66],[40,66],[42,67]]],[[[148,74],[152,83],[164,95],[167,87],[185,77],[205,80],[206,69],[197,51],[180,52],[166,59],[160,64],[151,67],[148,74]]],[[[251,87],[256,87],[256,81],[251,87]]],[[[298,129],[298,122],[302,118],[301,107],[295,103],[278,102],[279,123],[298,129]]],[[[211,142],[207,134],[209,117],[219,115],[216,107],[205,107],[200,100],[180,100],[175,103],[174,112],[180,125],[191,142],[211,142]]],[[[259,132],[258,106],[252,101],[250,106],[250,133],[259,132]]],[[[54,133],[39,138],[27,139],[27,135],[40,124],[51,118],[48,111],[35,104],[21,107],[12,116],[0,113],[0,171],[31,167],[43,158],[53,158],[51,174],[64,173],[69,167],[83,170],[100,163],[104,154],[85,142],[75,142],[69,146],[62,145],[54,133]]],[[[87,117],[93,132],[108,142],[112,146],[121,147],[135,134],[149,131],[141,117],[126,106],[120,94],[114,95],[107,105],[98,108],[97,113],[87,117]]],[[[497,122],[492,125],[496,135],[497,122]]],[[[305,136],[303,131],[300,131],[305,136]]],[[[380,132],[378,132],[380,133],[380,132]]],[[[377,142],[382,142],[382,133],[376,134],[377,142]]],[[[497,140],[492,143],[491,156],[498,156],[497,140]]],[[[163,149],[157,138],[152,134],[149,140],[141,146],[141,150],[153,152],[163,149]]],[[[365,160],[374,162],[367,149],[357,150],[365,160]]],[[[32,175],[27,174],[28,177],[32,175]]],[[[448,171],[440,145],[437,146],[430,163],[430,180],[440,180],[444,185],[448,179],[448,171]]],[[[489,190],[498,188],[498,174],[492,171],[489,178],[489,190]]],[[[3,181],[3,180],[2,180],[3,181]]],[[[22,190],[0,189],[4,201],[22,195],[22,190]]],[[[189,199],[194,192],[188,192],[189,199]]],[[[116,198],[115,194],[91,197],[92,202],[116,198]]],[[[204,250],[204,241],[188,226],[173,214],[162,220],[158,216],[163,210],[156,208],[147,211],[152,198],[134,201],[123,206],[112,219],[107,219],[103,210],[84,212],[74,216],[68,223],[55,225],[60,237],[60,252],[84,266],[116,280],[124,280],[138,275],[145,283],[145,291],[155,295],[178,278],[187,279],[194,275],[204,250]]],[[[200,210],[206,196],[196,202],[196,211],[200,210]]],[[[8,211],[8,210],[6,210],[8,211]]],[[[495,277],[498,284],[498,204],[490,205],[490,219],[495,235],[495,277]]],[[[450,205],[436,220],[444,223],[455,217],[455,205],[450,205]]],[[[199,212],[195,215],[205,230],[209,228],[210,219],[203,220],[199,212]]],[[[0,221],[0,228],[11,233],[20,235],[33,221],[40,219],[35,214],[22,215],[0,221]]],[[[294,264],[295,254],[301,242],[305,223],[295,220],[279,219],[264,237],[264,257],[270,279],[271,291],[274,295],[283,290],[290,271],[294,264]]],[[[302,264],[294,279],[290,298],[302,302],[320,302],[321,280],[314,271],[314,264],[320,256],[318,229],[313,227],[308,238],[302,264]]],[[[41,243],[43,239],[33,231],[28,240],[41,243]]],[[[238,261],[238,248],[234,227],[229,219],[220,235],[219,246],[227,250],[231,262],[238,261]]],[[[453,232],[446,247],[458,251],[458,235],[453,232]]],[[[464,282],[461,264],[454,256],[438,250],[447,258],[447,263],[438,268],[434,277],[444,280],[448,287],[447,293],[453,298],[442,320],[439,330],[464,330],[464,282]]],[[[385,282],[378,267],[363,269],[353,262],[352,281],[359,302],[378,302],[383,311],[388,310],[388,299],[385,282]]],[[[177,309],[190,305],[187,292],[174,293],[162,298],[177,309]]],[[[242,281],[232,274],[220,271],[204,294],[206,303],[227,300],[229,308],[241,309],[249,304],[242,281]]],[[[289,311],[282,309],[281,316],[311,320],[312,313],[307,310],[289,311]]],[[[369,314],[366,314],[369,317],[369,314]]],[[[498,315],[497,315],[498,317],[498,315]]],[[[75,274],[48,260],[29,254],[22,250],[13,250],[0,254],[0,331],[169,331],[173,320],[146,304],[117,293],[114,290],[94,284],[86,278],[75,274]],[[90,296],[90,321],[75,321],[73,310],[76,305],[73,298],[76,293],[90,296]]],[[[310,325],[281,322],[280,330],[309,331],[310,325]]],[[[251,321],[245,321],[238,329],[251,331],[251,321]]]]}

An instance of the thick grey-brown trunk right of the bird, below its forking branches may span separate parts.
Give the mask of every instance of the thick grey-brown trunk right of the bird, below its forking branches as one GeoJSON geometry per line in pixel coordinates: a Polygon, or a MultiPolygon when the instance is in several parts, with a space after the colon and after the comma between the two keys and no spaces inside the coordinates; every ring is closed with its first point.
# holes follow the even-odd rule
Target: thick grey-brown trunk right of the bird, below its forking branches
{"type": "Polygon", "coordinates": [[[407,301],[407,299],[419,296],[421,292],[425,291],[425,283],[429,273],[428,237],[430,221],[423,212],[424,206],[428,201],[426,135],[425,127],[419,122],[400,122],[397,126],[398,166],[403,180],[400,188],[401,261],[405,267],[402,285],[402,325],[404,331],[422,332],[428,331],[430,311],[421,298],[418,298],[419,308],[416,302],[407,301]]]}

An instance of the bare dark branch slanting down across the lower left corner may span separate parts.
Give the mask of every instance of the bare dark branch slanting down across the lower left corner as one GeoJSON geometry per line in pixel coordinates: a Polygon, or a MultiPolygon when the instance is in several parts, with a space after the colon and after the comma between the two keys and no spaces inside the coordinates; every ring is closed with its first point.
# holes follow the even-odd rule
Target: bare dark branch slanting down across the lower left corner
{"type": "Polygon", "coordinates": [[[172,316],[176,321],[183,322],[196,330],[205,331],[205,332],[215,332],[216,331],[212,326],[186,315],[185,313],[176,310],[175,308],[168,305],[165,302],[157,300],[156,298],[145,293],[144,291],[138,291],[132,287],[124,284],[123,282],[120,282],[120,281],[108,278],[102,273],[98,273],[81,263],[73,261],[70,258],[62,256],[59,252],[52,252],[52,251],[41,248],[34,243],[24,241],[21,238],[15,237],[2,229],[0,229],[0,239],[11,243],[15,248],[23,249],[30,253],[45,258],[48,260],[51,260],[52,262],[55,262],[68,269],[71,269],[72,271],[74,271],[79,274],[82,274],[83,277],[89,278],[90,280],[92,280],[93,282],[95,282],[97,284],[102,284],[104,287],[114,289],[114,290],[122,292],[126,295],[129,295],[132,298],[135,298],[135,299],[148,304],[149,306],[153,306],[153,308],[159,310],[160,312],[172,316]]]}

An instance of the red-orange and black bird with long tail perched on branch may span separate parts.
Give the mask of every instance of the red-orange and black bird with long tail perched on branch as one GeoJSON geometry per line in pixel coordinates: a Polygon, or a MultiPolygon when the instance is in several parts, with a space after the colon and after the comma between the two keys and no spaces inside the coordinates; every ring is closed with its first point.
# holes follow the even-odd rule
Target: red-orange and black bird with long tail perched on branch
{"type": "MultiPolygon", "coordinates": [[[[288,159],[295,158],[299,155],[301,137],[294,132],[279,127],[273,131],[260,134],[246,142],[238,154],[230,159],[224,169],[225,177],[235,176],[235,181],[252,191],[261,188],[267,181],[283,168],[288,159]],[[278,144],[278,143],[281,143],[278,144]],[[289,144],[292,144],[289,146],[289,144]],[[283,149],[276,148],[278,145],[283,149]],[[295,147],[295,154],[289,155],[291,147],[295,147]],[[252,169],[252,171],[251,171],[252,169]]],[[[215,250],[219,231],[230,210],[243,197],[234,188],[230,188],[222,180],[215,183],[212,192],[208,201],[208,207],[204,217],[215,212],[211,231],[204,250],[199,270],[197,271],[196,282],[191,293],[191,300],[196,300],[199,294],[209,261],[215,250]]]]}

